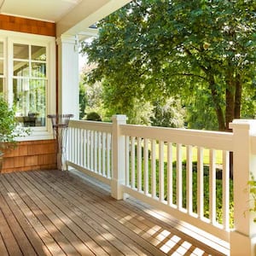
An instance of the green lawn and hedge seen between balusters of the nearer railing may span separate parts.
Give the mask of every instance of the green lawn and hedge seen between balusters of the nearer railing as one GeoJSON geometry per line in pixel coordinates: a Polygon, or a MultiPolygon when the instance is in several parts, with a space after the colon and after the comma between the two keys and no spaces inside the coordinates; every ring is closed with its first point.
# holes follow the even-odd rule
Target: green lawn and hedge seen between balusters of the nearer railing
{"type": "MultiPolygon", "coordinates": [[[[149,150],[151,150],[151,147],[149,147],[149,150]]],[[[176,145],[172,146],[172,201],[174,204],[176,204],[177,195],[176,195],[176,152],[177,148],[176,145]]],[[[193,211],[196,212],[196,206],[197,206],[197,170],[196,170],[196,162],[197,162],[197,148],[192,149],[192,160],[193,160],[193,211]]],[[[210,150],[204,149],[203,152],[203,160],[204,160],[204,214],[205,217],[209,217],[209,154],[210,150]]],[[[152,152],[151,152],[152,156],[152,152]]],[[[136,156],[137,158],[137,156],[136,156]]],[[[159,145],[155,145],[155,170],[156,170],[156,194],[159,195],[159,145]]],[[[183,207],[186,207],[186,147],[182,147],[182,159],[183,159],[183,207]]],[[[149,193],[151,193],[151,159],[148,159],[148,190],[149,193]]],[[[216,164],[222,165],[222,150],[216,150],[216,164]]],[[[218,166],[219,167],[219,166],[218,166]]],[[[131,166],[130,166],[131,168],[131,166]]],[[[220,171],[220,170],[219,170],[220,171]]],[[[164,146],[164,193],[165,198],[167,199],[167,146],[164,146]]],[[[137,183],[137,160],[135,161],[135,179],[137,183]]],[[[144,179],[144,161],[142,161],[142,183],[144,179]]],[[[143,184],[142,184],[143,185],[143,184]]],[[[142,188],[143,189],[143,188],[142,188]]],[[[230,179],[230,227],[233,226],[233,181],[230,179]]],[[[216,213],[217,213],[217,221],[218,223],[222,223],[223,218],[223,212],[222,212],[222,180],[216,179],[216,213]]]]}

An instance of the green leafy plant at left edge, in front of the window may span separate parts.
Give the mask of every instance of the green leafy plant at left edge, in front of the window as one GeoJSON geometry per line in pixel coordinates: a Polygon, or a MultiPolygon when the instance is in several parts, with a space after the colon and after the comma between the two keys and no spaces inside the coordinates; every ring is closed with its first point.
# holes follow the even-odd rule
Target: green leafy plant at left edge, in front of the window
{"type": "Polygon", "coordinates": [[[9,108],[3,94],[0,94],[0,172],[3,167],[3,154],[10,148],[15,148],[16,137],[26,136],[30,133],[29,129],[17,126],[15,110],[9,108]]]}

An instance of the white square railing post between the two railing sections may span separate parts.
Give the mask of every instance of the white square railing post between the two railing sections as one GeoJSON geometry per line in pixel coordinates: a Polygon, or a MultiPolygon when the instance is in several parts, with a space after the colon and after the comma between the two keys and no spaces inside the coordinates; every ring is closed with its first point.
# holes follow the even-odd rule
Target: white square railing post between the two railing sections
{"type": "Polygon", "coordinates": [[[119,125],[125,125],[126,119],[124,114],[116,114],[112,117],[113,177],[111,180],[111,195],[117,200],[123,199],[120,185],[125,183],[125,137],[120,136],[119,125]]]}

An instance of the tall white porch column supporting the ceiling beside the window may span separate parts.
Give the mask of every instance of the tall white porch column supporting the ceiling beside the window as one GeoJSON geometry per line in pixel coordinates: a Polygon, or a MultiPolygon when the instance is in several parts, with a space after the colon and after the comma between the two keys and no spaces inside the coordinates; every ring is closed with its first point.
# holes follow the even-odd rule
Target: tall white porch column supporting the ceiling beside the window
{"type": "Polygon", "coordinates": [[[79,119],[79,42],[62,35],[58,44],[58,109],[79,119]]]}

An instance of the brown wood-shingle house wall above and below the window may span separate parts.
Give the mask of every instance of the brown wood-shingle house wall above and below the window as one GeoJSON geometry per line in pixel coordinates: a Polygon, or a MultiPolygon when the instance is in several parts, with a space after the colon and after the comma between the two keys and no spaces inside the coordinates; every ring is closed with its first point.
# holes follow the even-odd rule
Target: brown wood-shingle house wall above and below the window
{"type": "MultiPolygon", "coordinates": [[[[0,29],[55,37],[55,23],[0,15],[0,29]]],[[[3,171],[56,169],[55,140],[20,142],[17,148],[4,154],[3,171]]]]}

